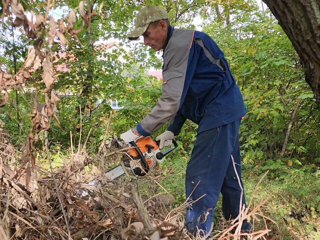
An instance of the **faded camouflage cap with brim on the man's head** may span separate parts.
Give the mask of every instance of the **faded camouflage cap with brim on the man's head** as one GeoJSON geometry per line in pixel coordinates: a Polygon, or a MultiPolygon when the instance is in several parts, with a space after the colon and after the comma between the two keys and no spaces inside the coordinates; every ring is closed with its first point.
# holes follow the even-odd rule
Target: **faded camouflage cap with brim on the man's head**
{"type": "Polygon", "coordinates": [[[168,19],[168,13],[158,6],[146,6],[142,8],[136,16],[134,29],[128,36],[130,40],[136,40],[154,21],[168,19]]]}

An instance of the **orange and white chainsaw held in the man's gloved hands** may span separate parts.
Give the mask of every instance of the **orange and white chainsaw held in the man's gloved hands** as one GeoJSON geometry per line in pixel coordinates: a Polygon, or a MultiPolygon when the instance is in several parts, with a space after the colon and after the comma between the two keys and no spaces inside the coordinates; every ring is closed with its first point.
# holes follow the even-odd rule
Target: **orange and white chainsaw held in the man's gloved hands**
{"type": "MultiPolygon", "coordinates": [[[[176,141],[172,139],[174,146],[169,147],[165,151],[161,152],[159,148],[160,140],[154,141],[149,136],[142,136],[135,141],[130,141],[129,144],[132,148],[126,151],[127,155],[124,155],[121,162],[116,167],[107,170],[104,173],[105,180],[116,180],[123,174],[131,176],[144,176],[149,171],[152,171],[157,163],[164,160],[164,156],[173,151],[178,145],[176,141]]],[[[97,180],[91,180],[89,185],[98,184],[97,180]]],[[[77,195],[83,197],[88,195],[87,190],[78,189],[77,195]]]]}

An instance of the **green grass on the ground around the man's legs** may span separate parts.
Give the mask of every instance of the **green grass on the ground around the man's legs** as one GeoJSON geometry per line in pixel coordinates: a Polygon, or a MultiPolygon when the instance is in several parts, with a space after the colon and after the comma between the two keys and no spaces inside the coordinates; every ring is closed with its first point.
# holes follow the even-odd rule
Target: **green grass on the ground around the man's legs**
{"type": "MultiPolygon", "coordinates": [[[[162,186],[175,196],[176,206],[185,199],[184,176],[187,159],[167,160],[159,171],[169,172],[162,186]]],[[[270,236],[288,231],[287,234],[277,239],[320,239],[320,180],[318,172],[309,172],[309,166],[293,168],[280,165],[270,170],[267,176],[253,193],[257,182],[266,171],[252,166],[243,167],[242,180],[244,184],[247,202],[250,198],[261,202],[265,198],[269,200],[262,206],[265,216],[274,220],[276,224],[269,222],[270,236]],[[283,177],[284,176],[284,177],[283,177]],[[299,215],[303,215],[299,217],[299,215]],[[299,226],[301,222],[308,224],[299,226]],[[299,226],[299,227],[297,227],[299,226]],[[297,229],[295,229],[297,227],[297,229]]],[[[267,168],[267,167],[264,167],[267,168]]],[[[272,168],[272,167],[271,167],[272,168]]],[[[221,217],[221,195],[214,213],[214,223],[220,230],[223,227],[221,217]]],[[[255,230],[265,229],[264,221],[255,222],[255,230]]]]}

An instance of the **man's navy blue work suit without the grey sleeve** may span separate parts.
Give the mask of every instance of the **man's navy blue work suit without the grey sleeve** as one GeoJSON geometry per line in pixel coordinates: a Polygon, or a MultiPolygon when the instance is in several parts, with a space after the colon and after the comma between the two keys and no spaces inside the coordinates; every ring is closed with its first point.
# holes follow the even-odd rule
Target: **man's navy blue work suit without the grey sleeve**
{"type": "MultiPolygon", "coordinates": [[[[198,124],[185,174],[186,197],[195,201],[187,207],[186,226],[189,232],[202,230],[205,234],[211,228],[220,192],[224,217],[234,219],[239,213],[243,183],[238,130],[246,109],[223,52],[203,32],[193,35],[182,97],[167,130],[177,135],[185,119],[198,124]]],[[[245,205],[244,192],[241,204],[245,205]]],[[[243,222],[242,230],[250,228],[243,222]]]]}

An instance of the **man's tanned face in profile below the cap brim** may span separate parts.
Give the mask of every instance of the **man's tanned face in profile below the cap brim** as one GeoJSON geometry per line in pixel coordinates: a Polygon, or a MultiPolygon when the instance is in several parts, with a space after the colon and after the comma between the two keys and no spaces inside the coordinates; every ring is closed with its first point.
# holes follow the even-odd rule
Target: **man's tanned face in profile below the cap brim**
{"type": "Polygon", "coordinates": [[[148,45],[155,51],[163,48],[166,40],[166,23],[160,20],[158,24],[149,24],[148,28],[142,34],[144,45],[148,45]]]}

